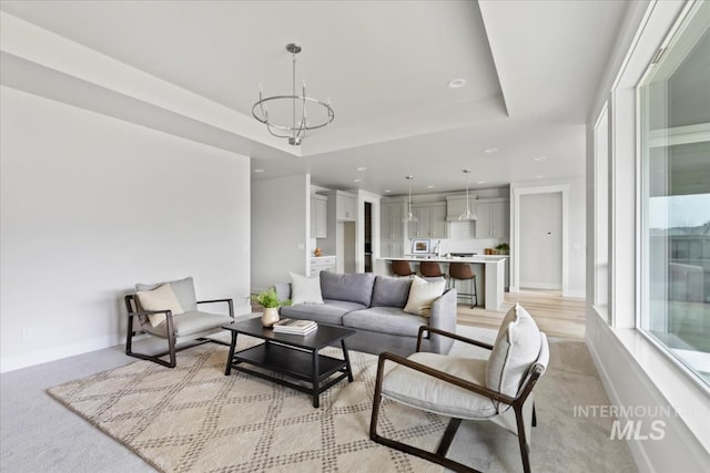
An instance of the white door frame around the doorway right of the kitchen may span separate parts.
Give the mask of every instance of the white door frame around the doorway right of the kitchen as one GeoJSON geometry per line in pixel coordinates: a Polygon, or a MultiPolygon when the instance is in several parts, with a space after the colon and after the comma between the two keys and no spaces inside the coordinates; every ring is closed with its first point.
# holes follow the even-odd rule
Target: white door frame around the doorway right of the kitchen
{"type": "Polygon", "coordinates": [[[514,187],[513,192],[513,212],[510,213],[510,226],[513,228],[513,241],[510,245],[510,292],[520,291],[520,196],[530,194],[556,194],[562,195],[562,297],[569,297],[569,230],[568,230],[568,209],[569,209],[569,184],[558,184],[548,186],[532,187],[514,187]]]}

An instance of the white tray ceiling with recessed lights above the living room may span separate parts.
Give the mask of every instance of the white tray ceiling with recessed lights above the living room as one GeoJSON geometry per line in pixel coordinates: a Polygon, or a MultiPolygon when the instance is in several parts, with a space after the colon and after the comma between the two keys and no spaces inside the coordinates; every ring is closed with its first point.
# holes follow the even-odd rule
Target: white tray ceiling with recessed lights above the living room
{"type": "Polygon", "coordinates": [[[8,86],[252,156],[252,168],[264,169],[254,179],[310,172],[320,186],[396,195],[406,193],[408,174],[414,193],[462,189],[462,169],[471,168],[471,187],[485,188],[584,175],[585,122],[627,7],[612,0],[3,0],[10,32],[0,43],[1,78],[8,86]],[[49,35],[58,44],[54,58],[30,51],[13,39],[12,31],[24,31],[18,19],[73,43],[49,35]],[[335,110],[334,123],[300,147],[251,117],[260,86],[266,95],[290,92],[288,42],[303,47],[297,83],[305,80],[308,95],[329,99],[335,110]],[[90,73],[88,62],[72,62],[72,45],[123,70],[111,62],[103,76],[90,73]],[[130,73],[133,89],[119,83],[130,73]],[[466,86],[447,88],[457,78],[466,86]],[[151,94],[155,80],[165,85],[151,94]],[[172,99],[182,93],[187,103],[192,93],[194,106],[178,110],[161,102],[168,96],[156,97],[172,86],[172,99]],[[485,152],[491,147],[497,152],[485,152]]]}

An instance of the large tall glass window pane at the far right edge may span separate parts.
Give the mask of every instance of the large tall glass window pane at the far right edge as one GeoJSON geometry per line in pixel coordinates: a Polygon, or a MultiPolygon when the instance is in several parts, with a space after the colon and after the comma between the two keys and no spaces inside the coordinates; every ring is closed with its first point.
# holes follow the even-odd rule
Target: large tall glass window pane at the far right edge
{"type": "Polygon", "coordinates": [[[710,385],[710,2],[698,2],[638,86],[639,328],[710,385]]]}

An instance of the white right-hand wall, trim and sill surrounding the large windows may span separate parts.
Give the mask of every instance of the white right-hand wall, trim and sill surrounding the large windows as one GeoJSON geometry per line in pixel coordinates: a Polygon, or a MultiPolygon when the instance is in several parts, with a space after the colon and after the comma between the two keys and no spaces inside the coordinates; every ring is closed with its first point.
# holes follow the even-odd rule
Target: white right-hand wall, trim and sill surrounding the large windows
{"type": "MultiPolygon", "coordinates": [[[[602,76],[588,116],[587,169],[590,215],[587,235],[590,248],[604,214],[594,214],[597,192],[609,199],[608,238],[610,281],[609,313],[594,307],[595,285],[588,286],[586,341],[612,404],[641,407],[652,412],[672,408],[678,415],[647,415],[646,428],[653,421],[665,423],[659,440],[631,439],[629,448],[639,471],[706,472],[710,462],[708,390],[683,373],[653,342],[636,329],[638,295],[636,239],[636,90],[651,58],[662,44],[684,2],[639,1],[629,7],[628,17],[602,76]],[[612,90],[613,89],[613,90],[612,90]],[[609,104],[609,185],[594,179],[594,125],[609,104]],[[609,319],[609,321],[607,320],[609,319]]],[[[590,263],[595,261],[594,253],[590,263]]],[[[605,268],[606,271],[606,268],[605,268]]],[[[595,265],[587,268],[590,280],[595,265]]],[[[622,419],[626,421],[626,419],[622,419]]]]}

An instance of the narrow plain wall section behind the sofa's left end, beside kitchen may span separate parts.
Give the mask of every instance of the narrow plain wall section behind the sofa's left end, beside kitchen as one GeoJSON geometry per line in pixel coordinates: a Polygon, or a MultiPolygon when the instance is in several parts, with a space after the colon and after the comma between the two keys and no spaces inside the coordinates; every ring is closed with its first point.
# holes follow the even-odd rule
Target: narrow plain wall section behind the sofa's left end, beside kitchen
{"type": "Polygon", "coordinates": [[[252,183],[252,291],[307,274],[310,188],[310,174],[252,183]]]}

